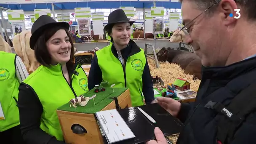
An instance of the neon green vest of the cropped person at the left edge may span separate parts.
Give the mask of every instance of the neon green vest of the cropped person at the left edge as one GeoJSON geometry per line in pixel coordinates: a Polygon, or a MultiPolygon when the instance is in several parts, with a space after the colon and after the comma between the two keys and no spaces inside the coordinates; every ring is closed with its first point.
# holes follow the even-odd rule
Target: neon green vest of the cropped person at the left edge
{"type": "Polygon", "coordinates": [[[0,117],[0,132],[19,125],[19,109],[16,101],[19,80],[16,78],[16,54],[0,51],[0,103],[5,119],[0,117]],[[15,99],[14,99],[14,98],[15,99]]]}

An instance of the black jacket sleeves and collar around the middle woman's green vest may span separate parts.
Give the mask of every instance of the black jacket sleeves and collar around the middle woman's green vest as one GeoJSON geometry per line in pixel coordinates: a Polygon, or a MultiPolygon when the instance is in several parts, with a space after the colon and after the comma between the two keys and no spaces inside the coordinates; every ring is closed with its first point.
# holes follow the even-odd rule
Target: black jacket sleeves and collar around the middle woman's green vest
{"type": "MultiPolygon", "coordinates": [[[[118,59],[117,50],[115,49],[114,45],[112,45],[111,50],[114,56],[118,59]]],[[[123,56],[123,59],[125,59],[126,61],[129,56],[132,56],[138,53],[139,51],[141,51],[139,46],[136,45],[136,43],[133,40],[130,40],[129,46],[121,50],[121,54],[123,56]]],[[[93,56],[93,61],[91,64],[89,77],[88,77],[89,90],[93,89],[95,85],[99,85],[101,82],[102,82],[102,72],[98,65],[98,59],[95,53],[95,55],[93,56]]],[[[146,104],[150,104],[155,99],[155,97],[154,97],[154,91],[153,91],[152,77],[150,75],[149,65],[147,61],[142,74],[142,85],[143,85],[142,92],[145,98],[145,102],[146,104]]]]}

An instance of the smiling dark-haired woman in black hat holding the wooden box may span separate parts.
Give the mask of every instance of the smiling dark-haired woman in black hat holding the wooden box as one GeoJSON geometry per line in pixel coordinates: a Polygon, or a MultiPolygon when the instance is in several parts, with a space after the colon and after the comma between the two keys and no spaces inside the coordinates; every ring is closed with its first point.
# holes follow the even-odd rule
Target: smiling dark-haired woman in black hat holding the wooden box
{"type": "Polygon", "coordinates": [[[30,47],[41,66],[19,86],[20,125],[26,144],[65,144],[56,109],[88,91],[85,72],[73,63],[68,29],[68,23],[47,15],[32,25],[30,47]]]}

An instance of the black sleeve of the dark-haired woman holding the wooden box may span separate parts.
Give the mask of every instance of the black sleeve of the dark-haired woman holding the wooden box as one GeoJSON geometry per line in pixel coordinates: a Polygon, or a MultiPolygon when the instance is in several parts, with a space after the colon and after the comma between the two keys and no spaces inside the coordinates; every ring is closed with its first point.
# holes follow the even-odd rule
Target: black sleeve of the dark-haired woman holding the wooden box
{"type": "Polygon", "coordinates": [[[43,106],[35,91],[24,83],[19,86],[18,107],[21,135],[26,144],[66,144],[40,128],[43,106]]]}

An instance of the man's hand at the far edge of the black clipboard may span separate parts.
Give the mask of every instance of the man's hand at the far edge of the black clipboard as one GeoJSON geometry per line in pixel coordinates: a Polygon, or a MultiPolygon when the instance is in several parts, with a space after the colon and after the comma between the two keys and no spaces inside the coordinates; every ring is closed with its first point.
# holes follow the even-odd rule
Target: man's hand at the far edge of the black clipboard
{"type": "Polygon", "coordinates": [[[181,103],[172,98],[158,97],[156,99],[156,103],[158,103],[161,107],[163,107],[167,112],[169,112],[174,117],[177,117],[181,109],[181,103]]]}

